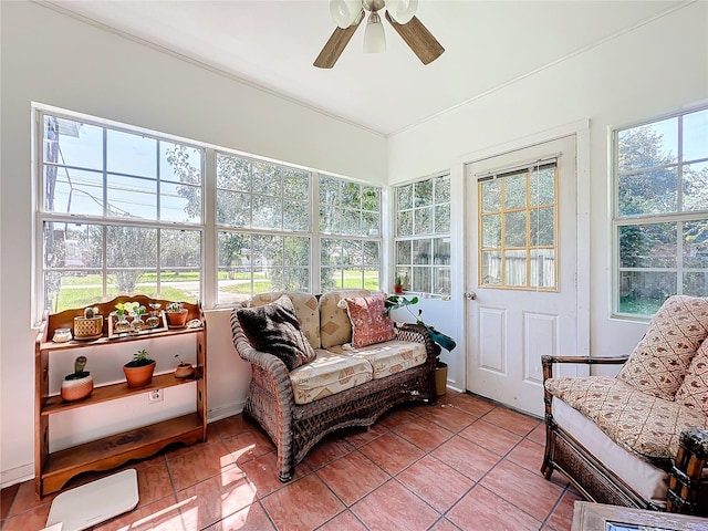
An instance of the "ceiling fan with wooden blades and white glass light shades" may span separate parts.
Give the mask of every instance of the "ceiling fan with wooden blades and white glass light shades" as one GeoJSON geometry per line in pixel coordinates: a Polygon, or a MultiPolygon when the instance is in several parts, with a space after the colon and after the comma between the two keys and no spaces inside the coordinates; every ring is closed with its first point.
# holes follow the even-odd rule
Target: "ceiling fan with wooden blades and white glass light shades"
{"type": "Polygon", "coordinates": [[[406,41],[423,64],[438,59],[445,49],[416,15],[418,0],[330,0],[330,13],[337,28],[314,61],[319,69],[331,69],[368,12],[364,52],[385,52],[386,38],[378,12],[386,8],[386,20],[406,41]]]}

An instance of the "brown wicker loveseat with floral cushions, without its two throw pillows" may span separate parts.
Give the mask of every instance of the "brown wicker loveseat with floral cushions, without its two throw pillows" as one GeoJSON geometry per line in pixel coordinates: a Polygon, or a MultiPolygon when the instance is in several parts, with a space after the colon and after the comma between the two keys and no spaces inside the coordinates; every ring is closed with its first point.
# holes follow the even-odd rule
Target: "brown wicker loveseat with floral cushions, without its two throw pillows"
{"type": "Polygon", "coordinates": [[[289,371],[277,355],[256,350],[239,308],[231,313],[231,332],[238,354],[251,364],[244,413],[275,444],[280,480],[289,481],[295,465],[325,435],[371,426],[404,402],[435,403],[436,345],[423,326],[394,323],[395,336],[389,341],[352,346],[352,324],[343,301],[371,298],[366,290],[321,296],[261,293],[241,308],[273,304],[283,294],[292,302],[315,360],[289,371]]]}

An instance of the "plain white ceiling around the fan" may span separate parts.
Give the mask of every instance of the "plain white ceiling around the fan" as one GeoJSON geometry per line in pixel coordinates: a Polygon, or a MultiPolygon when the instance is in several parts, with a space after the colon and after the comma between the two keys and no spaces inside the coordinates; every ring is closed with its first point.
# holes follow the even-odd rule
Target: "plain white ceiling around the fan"
{"type": "Polygon", "coordinates": [[[419,0],[439,59],[424,66],[386,21],[386,53],[364,54],[363,22],[332,70],[312,65],[334,30],[327,0],[49,3],[389,135],[687,2],[419,0]]]}

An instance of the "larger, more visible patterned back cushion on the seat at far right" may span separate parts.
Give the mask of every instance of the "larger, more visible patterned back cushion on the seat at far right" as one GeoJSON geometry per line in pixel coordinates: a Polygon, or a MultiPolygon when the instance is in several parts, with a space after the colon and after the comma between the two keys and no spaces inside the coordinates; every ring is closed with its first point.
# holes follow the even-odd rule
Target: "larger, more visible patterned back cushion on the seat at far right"
{"type": "Polygon", "coordinates": [[[644,393],[673,399],[706,336],[708,298],[669,296],[617,377],[644,393]]]}

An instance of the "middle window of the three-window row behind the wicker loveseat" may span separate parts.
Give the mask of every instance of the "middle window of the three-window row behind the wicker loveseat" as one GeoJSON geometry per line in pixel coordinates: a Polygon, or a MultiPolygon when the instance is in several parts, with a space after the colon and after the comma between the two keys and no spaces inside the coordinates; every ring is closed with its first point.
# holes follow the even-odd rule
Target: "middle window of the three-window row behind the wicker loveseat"
{"type": "Polygon", "coordinates": [[[310,173],[217,153],[219,304],[310,291],[310,173]]]}

